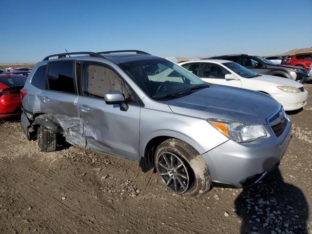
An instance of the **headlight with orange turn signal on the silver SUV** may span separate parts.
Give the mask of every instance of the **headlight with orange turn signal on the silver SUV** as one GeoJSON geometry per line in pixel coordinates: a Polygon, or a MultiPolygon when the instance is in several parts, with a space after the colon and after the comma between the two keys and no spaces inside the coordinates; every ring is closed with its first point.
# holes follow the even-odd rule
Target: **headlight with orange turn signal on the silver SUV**
{"type": "Polygon", "coordinates": [[[209,119],[208,122],[225,136],[237,142],[250,142],[259,137],[267,136],[266,131],[260,124],[241,123],[223,119],[209,119]]]}

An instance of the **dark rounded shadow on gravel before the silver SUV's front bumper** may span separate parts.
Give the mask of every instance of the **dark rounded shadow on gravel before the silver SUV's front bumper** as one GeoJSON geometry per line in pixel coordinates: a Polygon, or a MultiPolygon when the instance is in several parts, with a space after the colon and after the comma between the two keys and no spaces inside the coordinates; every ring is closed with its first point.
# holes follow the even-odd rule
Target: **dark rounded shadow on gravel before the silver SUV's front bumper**
{"type": "Polygon", "coordinates": [[[302,191],[285,183],[277,169],[269,178],[248,188],[235,200],[242,218],[241,234],[308,233],[308,203],[302,191]]]}

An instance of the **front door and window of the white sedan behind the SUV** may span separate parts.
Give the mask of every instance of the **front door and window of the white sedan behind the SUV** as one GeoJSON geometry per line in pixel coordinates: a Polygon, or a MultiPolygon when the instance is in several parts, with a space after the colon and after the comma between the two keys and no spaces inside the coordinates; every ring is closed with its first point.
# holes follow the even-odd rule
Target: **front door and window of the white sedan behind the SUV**
{"type": "Polygon", "coordinates": [[[205,62],[202,63],[202,80],[208,83],[214,83],[214,84],[222,84],[222,85],[228,85],[228,86],[234,86],[234,87],[241,87],[241,81],[237,79],[229,79],[227,80],[225,78],[226,74],[231,74],[227,69],[220,66],[216,63],[211,62],[205,62]]]}

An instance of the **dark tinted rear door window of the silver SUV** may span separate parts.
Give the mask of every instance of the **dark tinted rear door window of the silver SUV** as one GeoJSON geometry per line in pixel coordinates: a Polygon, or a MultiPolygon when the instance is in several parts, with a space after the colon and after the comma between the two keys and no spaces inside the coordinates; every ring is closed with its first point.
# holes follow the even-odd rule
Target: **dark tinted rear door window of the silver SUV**
{"type": "Polygon", "coordinates": [[[74,62],[51,62],[48,71],[49,90],[75,94],[74,62]]]}

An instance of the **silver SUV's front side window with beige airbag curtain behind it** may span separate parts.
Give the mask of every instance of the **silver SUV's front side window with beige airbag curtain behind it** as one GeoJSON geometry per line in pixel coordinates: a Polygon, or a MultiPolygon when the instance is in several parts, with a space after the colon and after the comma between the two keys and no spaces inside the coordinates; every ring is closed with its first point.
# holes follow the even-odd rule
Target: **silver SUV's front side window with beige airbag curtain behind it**
{"type": "Polygon", "coordinates": [[[119,91],[127,103],[138,103],[134,91],[110,68],[84,64],[83,94],[90,97],[103,98],[110,91],[119,91]]]}

